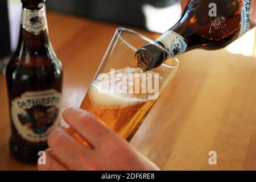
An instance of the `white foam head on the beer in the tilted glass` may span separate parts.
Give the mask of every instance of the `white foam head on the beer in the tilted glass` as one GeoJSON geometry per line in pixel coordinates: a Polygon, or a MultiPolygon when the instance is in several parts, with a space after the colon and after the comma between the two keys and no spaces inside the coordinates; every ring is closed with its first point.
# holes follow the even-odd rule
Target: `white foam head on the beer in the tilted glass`
{"type": "Polygon", "coordinates": [[[152,90],[159,92],[162,84],[163,78],[158,73],[126,68],[99,75],[89,92],[98,104],[128,105],[150,100],[152,90]]]}

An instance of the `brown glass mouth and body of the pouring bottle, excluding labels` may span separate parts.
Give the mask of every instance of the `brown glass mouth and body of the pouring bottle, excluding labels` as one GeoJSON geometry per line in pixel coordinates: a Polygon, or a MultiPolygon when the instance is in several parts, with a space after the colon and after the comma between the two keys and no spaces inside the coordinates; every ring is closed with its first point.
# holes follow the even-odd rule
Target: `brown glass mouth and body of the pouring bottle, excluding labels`
{"type": "MultiPolygon", "coordinates": [[[[187,43],[186,51],[224,48],[238,39],[241,28],[241,7],[241,0],[192,0],[179,22],[170,28],[170,31],[184,38],[187,43]],[[217,16],[209,16],[210,3],[216,4],[217,16]]],[[[156,43],[167,48],[158,40],[156,43]]],[[[172,52],[171,56],[177,55],[173,50],[169,51],[172,52]]],[[[138,67],[144,71],[159,67],[168,57],[170,56],[150,43],[138,49],[135,55],[138,67]]]]}

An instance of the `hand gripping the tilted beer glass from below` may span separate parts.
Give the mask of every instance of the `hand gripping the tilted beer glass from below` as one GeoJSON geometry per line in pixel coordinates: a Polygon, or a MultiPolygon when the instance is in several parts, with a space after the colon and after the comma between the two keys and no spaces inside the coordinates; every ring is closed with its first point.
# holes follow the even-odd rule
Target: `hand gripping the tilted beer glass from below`
{"type": "Polygon", "coordinates": [[[139,154],[114,131],[102,125],[92,114],[81,109],[66,109],[64,120],[91,148],[82,145],[61,127],[49,134],[46,165],[39,170],[159,170],[150,160],[139,154]],[[58,162],[52,154],[67,164],[58,162]]]}

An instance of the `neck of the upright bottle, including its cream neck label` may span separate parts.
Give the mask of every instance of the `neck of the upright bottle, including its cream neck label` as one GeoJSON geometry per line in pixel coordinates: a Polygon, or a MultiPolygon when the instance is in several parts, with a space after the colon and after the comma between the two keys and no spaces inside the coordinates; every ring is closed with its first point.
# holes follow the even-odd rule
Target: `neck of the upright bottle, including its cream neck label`
{"type": "Polygon", "coordinates": [[[47,19],[43,11],[23,7],[16,50],[19,56],[46,55],[53,52],[48,38],[47,19]]]}

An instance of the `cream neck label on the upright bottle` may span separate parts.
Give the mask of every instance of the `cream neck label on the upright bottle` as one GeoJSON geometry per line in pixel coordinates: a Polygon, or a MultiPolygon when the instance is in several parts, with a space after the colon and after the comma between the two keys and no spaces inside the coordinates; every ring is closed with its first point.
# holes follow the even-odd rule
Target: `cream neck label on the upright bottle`
{"type": "Polygon", "coordinates": [[[31,32],[32,34],[38,35],[40,32],[47,28],[46,16],[42,14],[43,9],[40,10],[22,10],[22,27],[31,32]]]}

